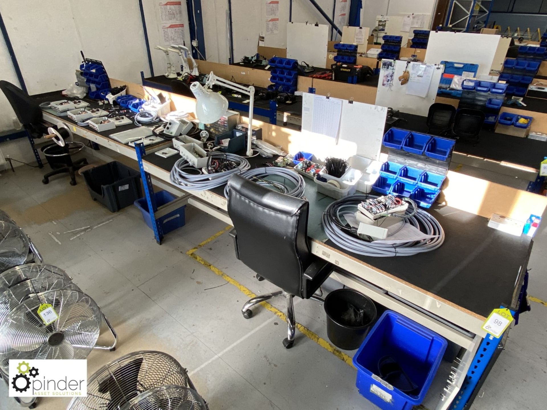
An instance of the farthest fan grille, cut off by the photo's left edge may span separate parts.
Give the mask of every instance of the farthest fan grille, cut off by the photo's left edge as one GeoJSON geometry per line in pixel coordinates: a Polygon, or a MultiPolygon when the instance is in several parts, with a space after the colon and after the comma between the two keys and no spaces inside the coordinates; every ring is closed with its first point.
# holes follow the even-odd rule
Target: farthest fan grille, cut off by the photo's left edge
{"type": "Polygon", "coordinates": [[[19,226],[0,222],[0,272],[25,263],[30,241],[19,226]]]}

